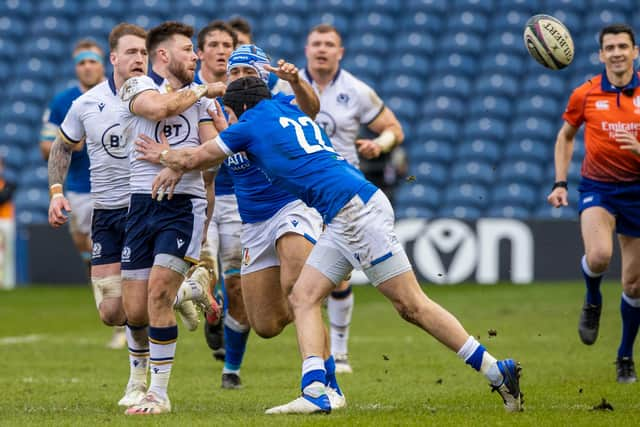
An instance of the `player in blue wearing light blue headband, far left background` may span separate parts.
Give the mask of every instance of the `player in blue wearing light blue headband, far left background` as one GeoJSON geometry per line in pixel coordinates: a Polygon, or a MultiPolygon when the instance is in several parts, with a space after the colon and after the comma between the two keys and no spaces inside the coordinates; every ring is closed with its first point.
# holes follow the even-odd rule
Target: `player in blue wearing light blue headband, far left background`
{"type": "MultiPolygon", "coordinates": [[[[78,86],[70,87],[57,94],[45,110],[40,137],[40,150],[45,160],[49,160],[51,145],[58,134],[60,124],[71,108],[71,103],[105,80],[103,58],[104,52],[93,40],[80,40],[73,48],[78,86]]],[[[92,250],[90,232],[93,204],[90,194],[89,156],[84,141],[73,146],[71,164],[64,186],[72,209],[69,231],[76,249],[90,270],[92,250]]],[[[117,349],[124,348],[126,344],[124,328],[114,327],[113,336],[107,346],[117,349]]]]}

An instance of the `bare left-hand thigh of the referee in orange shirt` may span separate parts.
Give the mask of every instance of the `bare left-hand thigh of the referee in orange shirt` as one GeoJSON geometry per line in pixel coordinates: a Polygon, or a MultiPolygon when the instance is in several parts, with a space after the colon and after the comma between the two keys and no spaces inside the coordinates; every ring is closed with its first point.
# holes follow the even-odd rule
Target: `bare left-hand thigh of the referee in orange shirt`
{"type": "Polygon", "coordinates": [[[587,264],[594,273],[602,273],[609,267],[615,227],[615,217],[600,206],[587,208],[580,214],[587,264]]]}

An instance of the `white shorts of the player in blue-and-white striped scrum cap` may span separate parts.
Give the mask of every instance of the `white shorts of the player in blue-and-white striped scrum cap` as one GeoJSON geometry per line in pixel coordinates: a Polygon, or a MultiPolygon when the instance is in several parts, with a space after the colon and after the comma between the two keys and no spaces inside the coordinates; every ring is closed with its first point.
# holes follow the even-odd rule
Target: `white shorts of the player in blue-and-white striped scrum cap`
{"type": "Polygon", "coordinates": [[[322,233],[322,217],[300,200],[288,203],[267,221],[242,225],[242,274],[280,265],[276,242],[286,233],[316,243],[322,233]]]}

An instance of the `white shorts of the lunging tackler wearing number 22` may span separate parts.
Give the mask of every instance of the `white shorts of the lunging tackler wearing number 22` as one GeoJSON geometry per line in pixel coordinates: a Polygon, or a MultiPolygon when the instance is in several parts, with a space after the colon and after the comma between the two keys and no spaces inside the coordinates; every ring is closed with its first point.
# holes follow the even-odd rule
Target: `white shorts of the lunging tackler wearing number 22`
{"type": "Polygon", "coordinates": [[[376,191],[364,204],[351,199],[327,225],[307,264],[338,285],[353,268],[374,286],[410,271],[411,263],[394,231],[394,214],[384,193],[376,191]]]}

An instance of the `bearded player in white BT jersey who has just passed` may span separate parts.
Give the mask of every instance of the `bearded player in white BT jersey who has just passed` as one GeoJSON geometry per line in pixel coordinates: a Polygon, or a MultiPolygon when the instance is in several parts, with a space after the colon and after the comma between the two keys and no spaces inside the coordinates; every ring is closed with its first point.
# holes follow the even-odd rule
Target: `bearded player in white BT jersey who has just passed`
{"type": "Polygon", "coordinates": [[[151,382],[142,401],[128,415],[171,411],[167,387],[175,356],[178,329],[172,302],[196,298],[206,311],[218,307],[202,287],[180,295],[178,287],[191,263],[198,260],[205,228],[204,182],[199,171],[175,174],[139,161],[129,144],[137,135],[166,137],[174,147],[196,147],[216,135],[204,96],[224,93],[224,84],[195,85],[197,57],[193,28],[165,22],[149,31],[146,46],[152,69],[149,76],[127,80],[120,89],[122,139],[129,148],[131,199],[122,250],[123,302],[127,318],[149,325],[151,382]],[[168,198],[150,194],[156,174],[174,183],[168,198]],[[177,295],[178,294],[178,295],[177,295]],[[141,304],[142,297],[148,305],[141,304]]]}

